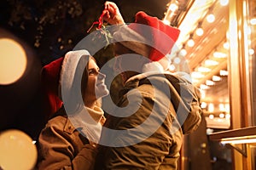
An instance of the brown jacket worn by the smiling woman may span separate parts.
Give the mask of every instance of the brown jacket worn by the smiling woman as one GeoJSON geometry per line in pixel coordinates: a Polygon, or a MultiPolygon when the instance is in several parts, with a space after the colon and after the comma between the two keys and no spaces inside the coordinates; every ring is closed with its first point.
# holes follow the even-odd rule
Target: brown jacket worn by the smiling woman
{"type": "Polygon", "coordinates": [[[63,126],[47,124],[38,139],[38,170],[93,169],[96,148],[79,140],[79,131],[67,133],[63,126]]]}

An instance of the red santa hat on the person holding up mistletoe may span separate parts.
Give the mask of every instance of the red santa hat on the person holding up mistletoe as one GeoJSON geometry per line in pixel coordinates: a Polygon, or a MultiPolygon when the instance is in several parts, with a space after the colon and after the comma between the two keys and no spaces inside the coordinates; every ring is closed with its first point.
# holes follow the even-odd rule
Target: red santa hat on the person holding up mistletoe
{"type": "Polygon", "coordinates": [[[116,32],[114,38],[126,48],[148,57],[151,61],[159,61],[166,54],[171,53],[180,33],[177,28],[168,26],[143,11],[136,14],[135,22],[128,28],[130,31],[123,29],[116,32]],[[147,45],[141,42],[146,42],[147,45]]]}

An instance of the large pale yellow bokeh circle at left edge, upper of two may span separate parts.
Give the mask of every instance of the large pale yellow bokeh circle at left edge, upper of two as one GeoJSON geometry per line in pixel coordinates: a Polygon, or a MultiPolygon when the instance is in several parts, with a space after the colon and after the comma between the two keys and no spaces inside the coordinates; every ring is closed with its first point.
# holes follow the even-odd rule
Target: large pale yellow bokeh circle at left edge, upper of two
{"type": "Polygon", "coordinates": [[[19,80],[26,71],[26,52],[20,43],[0,38],[0,84],[8,85],[19,80]]]}

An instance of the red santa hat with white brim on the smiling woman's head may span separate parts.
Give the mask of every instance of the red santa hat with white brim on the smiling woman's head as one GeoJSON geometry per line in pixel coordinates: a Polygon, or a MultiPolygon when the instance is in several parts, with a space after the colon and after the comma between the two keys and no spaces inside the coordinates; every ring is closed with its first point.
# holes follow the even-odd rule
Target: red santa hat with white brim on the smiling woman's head
{"type": "Polygon", "coordinates": [[[53,115],[61,108],[63,102],[60,88],[64,86],[65,90],[68,91],[73,86],[75,71],[83,55],[90,54],[86,50],[70,51],[65,54],[65,57],[55,59],[48,65],[44,65],[41,72],[41,81],[46,104],[44,106],[46,116],[53,115]],[[63,77],[68,77],[68,80],[63,81],[63,77]]]}

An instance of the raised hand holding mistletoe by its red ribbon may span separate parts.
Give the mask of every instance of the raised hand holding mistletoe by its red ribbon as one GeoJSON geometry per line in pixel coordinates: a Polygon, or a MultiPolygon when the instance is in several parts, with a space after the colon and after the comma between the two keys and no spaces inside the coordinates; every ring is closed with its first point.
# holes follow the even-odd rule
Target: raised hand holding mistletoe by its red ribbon
{"type": "Polygon", "coordinates": [[[106,1],[104,5],[105,5],[105,8],[102,11],[102,14],[103,14],[103,19],[105,21],[107,21],[110,25],[125,24],[125,21],[119,12],[119,8],[115,3],[106,1]]]}

